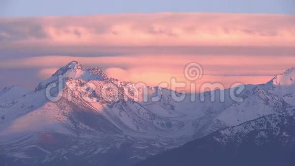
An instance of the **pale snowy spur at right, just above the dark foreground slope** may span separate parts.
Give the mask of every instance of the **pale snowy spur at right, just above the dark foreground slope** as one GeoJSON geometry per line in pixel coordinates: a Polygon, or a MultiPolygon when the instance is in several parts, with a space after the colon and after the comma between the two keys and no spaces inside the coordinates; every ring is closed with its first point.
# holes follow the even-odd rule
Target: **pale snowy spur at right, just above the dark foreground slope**
{"type": "Polygon", "coordinates": [[[197,133],[202,137],[219,129],[236,126],[241,123],[263,117],[265,115],[285,112],[290,108],[282,98],[258,88],[251,91],[249,97],[243,102],[235,102],[225,108],[220,114],[215,116],[213,120],[202,126],[197,133]],[[203,133],[203,134],[201,134],[203,133]]]}

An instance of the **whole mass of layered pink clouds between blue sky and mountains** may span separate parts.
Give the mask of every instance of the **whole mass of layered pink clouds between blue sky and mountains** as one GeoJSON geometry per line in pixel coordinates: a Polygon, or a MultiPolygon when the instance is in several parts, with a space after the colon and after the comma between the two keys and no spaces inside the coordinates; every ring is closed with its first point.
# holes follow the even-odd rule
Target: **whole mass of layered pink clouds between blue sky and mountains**
{"type": "Polygon", "coordinates": [[[293,20],[222,13],[0,18],[0,51],[43,50],[40,57],[2,60],[0,68],[37,68],[44,79],[75,60],[120,80],[157,86],[171,77],[188,81],[185,65],[198,62],[204,69],[200,81],[260,84],[295,66],[293,20]],[[75,57],[43,56],[52,52],[75,57]]]}

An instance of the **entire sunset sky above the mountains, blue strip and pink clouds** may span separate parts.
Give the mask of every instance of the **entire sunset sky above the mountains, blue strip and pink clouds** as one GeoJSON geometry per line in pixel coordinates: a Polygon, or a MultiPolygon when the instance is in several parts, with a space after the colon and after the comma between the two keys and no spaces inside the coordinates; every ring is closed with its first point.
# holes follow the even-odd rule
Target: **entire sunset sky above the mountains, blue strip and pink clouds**
{"type": "MultiPolygon", "coordinates": [[[[123,8],[114,2],[106,10],[112,4],[104,2],[97,8],[65,12],[65,2],[54,8],[51,1],[46,10],[40,1],[25,2],[0,2],[0,88],[33,89],[73,60],[122,81],[150,86],[171,77],[189,81],[183,70],[190,62],[203,67],[198,84],[219,81],[225,87],[234,82],[265,83],[295,67],[291,0],[212,1],[211,7],[182,1],[179,8],[179,3],[165,7],[164,1],[152,7],[157,2],[150,1],[140,8],[144,10],[134,1],[126,1],[123,8]],[[32,7],[35,2],[38,10],[32,7]]],[[[95,3],[88,5],[91,2],[95,3]]],[[[71,5],[77,9],[79,3],[71,5]]]]}

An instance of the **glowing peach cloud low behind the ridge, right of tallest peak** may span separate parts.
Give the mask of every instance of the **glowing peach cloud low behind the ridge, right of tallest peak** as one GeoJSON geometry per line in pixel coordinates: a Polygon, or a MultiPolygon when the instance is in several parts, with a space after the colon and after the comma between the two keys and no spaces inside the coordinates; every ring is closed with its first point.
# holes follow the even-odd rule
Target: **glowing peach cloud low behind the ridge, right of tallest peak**
{"type": "MultiPolygon", "coordinates": [[[[189,85],[191,81],[185,77],[182,69],[173,70],[173,67],[170,67],[170,69],[154,68],[149,70],[147,68],[148,67],[130,68],[128,70],[121,68],[109,68],[106,70],[106,73],[107,75],[118,78],[121,81],[132,81],[135,83],[143,82],[148,86],[160,86],[163,82],[167,82],[168,86],[165,88],[171,88],[171,79],[175,78],[177,82],[185,82],[188,85],[185,90],[190,91],[189,85]]],[[[201,85],[205,82],[210,82],[212,84],[220,82],[224,88],[230,88],[236,82],[257,85],[266,83],[274,77],[274,75],[255,75],[254,71],[252,71],[251,74],[253,75],[244,76],[237,74],[235,76],[226,76],[218,75],[218,73],[216,73],[216,75],[203,75],[201,79],[194,81],[196,83],[196,91],[199,91],[201,85]]]]}

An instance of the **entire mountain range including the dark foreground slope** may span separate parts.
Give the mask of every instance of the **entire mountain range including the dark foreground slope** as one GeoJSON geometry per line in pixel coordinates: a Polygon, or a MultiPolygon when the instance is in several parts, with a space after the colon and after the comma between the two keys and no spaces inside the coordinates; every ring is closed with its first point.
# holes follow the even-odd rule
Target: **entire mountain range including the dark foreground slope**
{"type": "Polygon", "coordinates": [[[35,90],[4,88],[0,165],[294,163],[295,68],[266,84],[246,85],[242,102],[230,89],[194,94],[194,102],[190,95],[176,102],[171,93],[181,95],[75,61],[35,90]],[[224,101],[210,100],[223,93],[224,101]]]}

